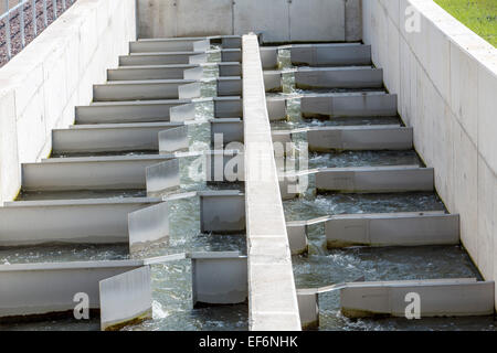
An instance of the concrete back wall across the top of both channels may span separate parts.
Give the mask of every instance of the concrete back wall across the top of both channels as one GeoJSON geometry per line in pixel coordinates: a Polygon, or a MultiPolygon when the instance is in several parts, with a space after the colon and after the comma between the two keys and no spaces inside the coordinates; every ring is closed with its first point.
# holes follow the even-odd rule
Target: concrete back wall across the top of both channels
{"type": "Polygon", "coordinates": [[[263,33],[264,42],[360,41],[362,0],[138,0],[140,38],[263,33]]]}

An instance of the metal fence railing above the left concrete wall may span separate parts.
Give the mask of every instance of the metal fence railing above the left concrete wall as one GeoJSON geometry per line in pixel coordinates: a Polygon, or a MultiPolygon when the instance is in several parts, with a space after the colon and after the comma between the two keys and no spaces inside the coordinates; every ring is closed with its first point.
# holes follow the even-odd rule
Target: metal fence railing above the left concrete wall
{"type": "MultiPolygon", "coordinates": [[[[49,25],[49,4],[47,2],[51,2],[52,6],[52,11],[53,11],[53,21],[55,21],[57,19],[59,15],[61,15],[66,9],[67,9],[67,2],[70,3],[70,6],[72,6],[76,0],[60,0],[62,1],[62,11],[61,13],[57,13],[57,0],[19,0],[19,3],[13,6],[12,8],[10,8],[10,2],[12,0],[0,0],[1,2],[4,3],[4,7],[7,9],[6,12],[3,12],[2,14],[0,14],[0,21],[4,21],[3,26],[0,25],[0,31],[3,30],[6,33],[6,42],[4,43],[0,43],[0,46],[2,45],[7,45],[7,56],[8,60],[12,58],[12,39],[15,38],[18,34],[21,35],[21,45],[22,49],[24,49],[24,46],[27,45],[27,33],[25,33],[25,29],[27,26],[29,26],[30,24],[32,24],[33,29],[33,35],[34,38],[41,33],[41,30],[38,25],[38,19],[40,18],[40,15],[43,15],[43,22],[44,22],[44,28],[45,29],[49,25]],[[36,9],[36,4],[42,2],[42,9],[41,11],[38,11],[36,9]],[[32,19],[31,21],[29,21],[27,23],[25,21],[25,13],[24,13],[24,6],[25,4],[31,4],[31,11],[32,11],[32,19]],[[19,18],[19,24],[20,24],[20,29],[18,32],[12,33],[11,31],[11,20],[19,18]]],[[[1,66],[1,63],[0,63],[1,66]]]]}

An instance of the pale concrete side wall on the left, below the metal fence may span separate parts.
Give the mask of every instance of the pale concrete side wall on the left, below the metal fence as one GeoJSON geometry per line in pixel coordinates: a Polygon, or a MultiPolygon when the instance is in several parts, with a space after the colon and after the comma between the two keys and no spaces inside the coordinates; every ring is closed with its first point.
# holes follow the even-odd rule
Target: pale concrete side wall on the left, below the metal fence
{"type": "Polygon", "coordinates": [[[21,186],[20,163],[49,156],[51,133],[74,121],[136,39],[134,0],[78,0],[0,69],[0,203],[21,186]]]}

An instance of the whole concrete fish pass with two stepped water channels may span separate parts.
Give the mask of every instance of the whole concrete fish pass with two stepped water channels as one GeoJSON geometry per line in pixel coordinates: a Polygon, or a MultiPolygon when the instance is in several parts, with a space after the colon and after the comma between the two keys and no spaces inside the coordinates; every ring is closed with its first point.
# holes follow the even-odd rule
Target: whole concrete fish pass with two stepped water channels
{"type": "MultiPolygon", "coordinates": [[[[467,210],[464,189],[494,159],[485,141],[466,153],[475,143],[462,132],[426,142],[452,117],[417,95],[444,94],[447,73],[426,71],[420,53],[405,64],[421,61],[416,77],[392,68],[399,43],[376,29],[395,18],[391,6],[293,0],[281,28],[279,1],[208,0],[201,18],[195,2],[162,3],[165,21],[150,12],[159,0],[78,0],[67,17],[99,40],[74,41],[82,33],[61,18],[0,69],[0,81],[32,69],[0,94],[0,327],[96,317],[101,330],[348,330],[358,318],[384,329],[387,317],[459,328],[493,315],[491,250],[468,234],[472,212],[497,207],[495,173],[482,171],[494,186],[475,186],[488,207],[467,210]],[[447,168],[464,182],[444,183],[447,168]]],[[[491,75],[480,75],[488,87],[491,75]]],[[[476,218],[494,232],[491,216],[476,218]]]]}

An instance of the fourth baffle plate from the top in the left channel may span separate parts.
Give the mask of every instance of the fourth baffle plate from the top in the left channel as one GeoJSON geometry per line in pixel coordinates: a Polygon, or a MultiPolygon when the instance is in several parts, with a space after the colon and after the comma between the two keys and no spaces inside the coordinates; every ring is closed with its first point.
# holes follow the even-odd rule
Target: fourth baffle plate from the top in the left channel
{"type": "Polygon", "coordinates": [[[186,99],[200,97],[193,79],[115,81],[93,86],[95,101],[186,99]]]}

